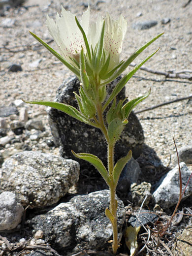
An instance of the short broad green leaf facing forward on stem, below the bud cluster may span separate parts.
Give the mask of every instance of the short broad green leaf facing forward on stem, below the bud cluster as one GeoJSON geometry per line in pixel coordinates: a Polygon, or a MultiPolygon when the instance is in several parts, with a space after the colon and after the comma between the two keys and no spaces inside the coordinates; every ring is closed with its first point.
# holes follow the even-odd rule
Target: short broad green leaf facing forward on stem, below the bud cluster
{"type": "Polygon", "coordinates": [[[116,118],[108,126],[108,136],[111,143],[115,143],[120,139],[120,135],[125,127],[121,119],[116,118]]]}

